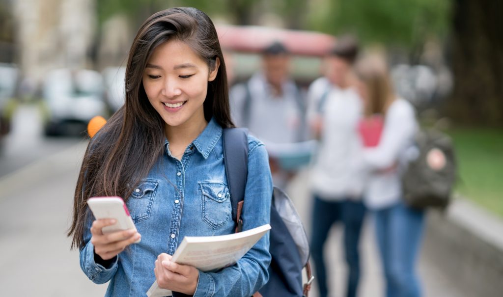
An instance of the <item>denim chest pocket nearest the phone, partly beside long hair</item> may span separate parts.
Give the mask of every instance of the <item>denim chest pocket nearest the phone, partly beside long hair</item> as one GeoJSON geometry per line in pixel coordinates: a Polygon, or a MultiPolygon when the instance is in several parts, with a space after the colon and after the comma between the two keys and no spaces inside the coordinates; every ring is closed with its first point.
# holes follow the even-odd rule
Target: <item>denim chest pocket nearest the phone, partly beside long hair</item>
{"type": "Polygon", "coordinates": [[[154,201],[157,184],[155,179],[145,178],[133,189],[129,196],[127,207],[134,223],[141,222],[150,217],[150,210],[154,201]]]}

